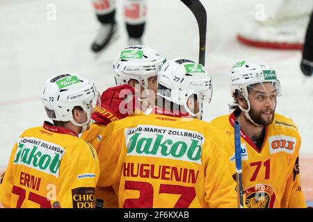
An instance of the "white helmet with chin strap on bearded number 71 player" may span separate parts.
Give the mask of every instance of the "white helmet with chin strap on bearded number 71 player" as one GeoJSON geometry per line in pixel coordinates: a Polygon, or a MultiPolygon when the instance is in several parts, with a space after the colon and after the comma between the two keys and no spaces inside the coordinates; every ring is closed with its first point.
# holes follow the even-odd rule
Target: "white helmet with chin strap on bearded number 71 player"
{"type": "Polygon", "coordinates": [[[239,96],[246,99],[248,108],[244,109],[241,105],[239,108],[245,112],[246,117],[252,121],[248,112],[250,111],[250,101],[248,99],[248,89],[257,83],[272,83],[276,89],[276,96],[280,96],[280,80],[276,76],[275,70],[271,69],[265,62],[262,61],[241,61],[237,62],[232,67],[232,73],[230,74],[230,92],[232,96],[238,92],[239,96]]]}

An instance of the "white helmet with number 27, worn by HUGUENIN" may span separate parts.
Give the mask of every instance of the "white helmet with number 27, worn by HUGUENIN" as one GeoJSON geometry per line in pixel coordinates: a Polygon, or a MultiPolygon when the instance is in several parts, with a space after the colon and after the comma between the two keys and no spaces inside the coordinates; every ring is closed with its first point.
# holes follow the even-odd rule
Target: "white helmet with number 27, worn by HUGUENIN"
{"type": "Polygon", "coordinates": [[[188,108],[189,96],[195,94],[199,103],[209,103],[212,96],[211,76],[200,64],[186,58],[168,60],[159,73],[158,96],[183,105],[191,116],[196,117],[200,112],[193,113],[188,108]]]}

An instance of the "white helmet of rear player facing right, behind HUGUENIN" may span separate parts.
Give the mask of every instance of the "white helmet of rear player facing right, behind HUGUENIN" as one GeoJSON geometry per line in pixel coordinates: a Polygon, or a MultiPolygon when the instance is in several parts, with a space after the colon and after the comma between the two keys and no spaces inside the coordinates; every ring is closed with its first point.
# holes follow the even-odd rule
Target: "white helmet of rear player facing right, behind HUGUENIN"
{"type": "Polygon", "coordinates": [[[116,85],[127,84],[132,78],[147,89],[147,79],[157,76],[166,58],[147,46],[128,46],[118,53],[113,64],[116,85]]]}

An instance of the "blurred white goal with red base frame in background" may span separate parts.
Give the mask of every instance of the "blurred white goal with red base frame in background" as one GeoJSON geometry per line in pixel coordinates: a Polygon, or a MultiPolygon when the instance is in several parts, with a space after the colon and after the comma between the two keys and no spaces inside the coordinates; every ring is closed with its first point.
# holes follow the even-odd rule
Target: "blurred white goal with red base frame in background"
{"type": "Polygon", "coordinates": [[[239,42],[271,49],[302,49],[312,0],[282,0],[271,17],[255,17],[237,35],[239,42]]]}

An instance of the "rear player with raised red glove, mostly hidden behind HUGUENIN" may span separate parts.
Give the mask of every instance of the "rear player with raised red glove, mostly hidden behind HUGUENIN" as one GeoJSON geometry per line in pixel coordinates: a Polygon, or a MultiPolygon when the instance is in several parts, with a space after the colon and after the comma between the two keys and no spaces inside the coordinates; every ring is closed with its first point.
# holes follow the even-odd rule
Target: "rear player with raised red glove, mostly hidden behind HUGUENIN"
{"type": "MultiPolygon", "coordinates": [[[[150,107],[150,103],[154,106],[157,74],[165,60],[166,58],[148,46],[128,46],[119,51],[113,64],[118,86],[110,87],[102,93],[102,107],[95,109],[92,116],[94,122],[90,130],[81,135],[81,139],[92,144],[98,152],[101,148],[99,142],[105,136],[106,125],[129,115],[142,114],[150,107]]],[[[97,189],[96,207],[118,207],[113,187],[97,189]]]]}

